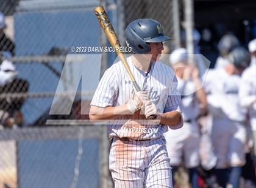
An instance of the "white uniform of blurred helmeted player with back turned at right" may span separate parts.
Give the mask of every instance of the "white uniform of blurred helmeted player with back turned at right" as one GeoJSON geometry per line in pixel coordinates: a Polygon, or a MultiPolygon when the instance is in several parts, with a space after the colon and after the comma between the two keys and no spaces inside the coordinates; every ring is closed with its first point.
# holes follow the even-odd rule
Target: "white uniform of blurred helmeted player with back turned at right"
{"type": "Polygon", "coordinates": [[[213,116],[212,144],[216,168],[243,166],[246,144],[246,109],[240,106],[238,88],[241,78],[225,69],[209,70],[204,76],[208,109],[213,116]]]}

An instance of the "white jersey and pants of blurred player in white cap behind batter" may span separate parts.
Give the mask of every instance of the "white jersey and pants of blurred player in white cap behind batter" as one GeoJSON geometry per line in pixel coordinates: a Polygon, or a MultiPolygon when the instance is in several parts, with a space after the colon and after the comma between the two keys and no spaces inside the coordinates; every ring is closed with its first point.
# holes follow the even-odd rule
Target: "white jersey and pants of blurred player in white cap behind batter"
{"type": "Polygon", "coordinates": [[[182,93],[180,109],[183,116],[183,127],[166,132],[166,149],[173,166],[179,166],[182,155],[185,155],[185,166],[188,168],[199,165],[199,127],[196,117],[199,115],[199,103],[196,99],[196,86],[193,81],[178,79],[177,90],[182,93]],[[186,122],[190,121],[190,122],[186,122]]]}

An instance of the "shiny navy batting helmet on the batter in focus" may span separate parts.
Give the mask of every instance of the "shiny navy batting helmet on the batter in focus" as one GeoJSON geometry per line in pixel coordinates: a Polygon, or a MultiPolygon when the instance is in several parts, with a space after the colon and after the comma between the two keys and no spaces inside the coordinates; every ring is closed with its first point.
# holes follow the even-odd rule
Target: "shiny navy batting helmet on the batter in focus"
{"type": "Polygon", "coordinates": [[[154,19],[137,19],[125,31],[126,44],[133,53],[148,53],[148,42],[163,42],[171,39],[166,36],[162,25],[154,19]]]}

